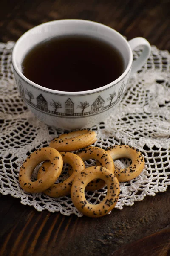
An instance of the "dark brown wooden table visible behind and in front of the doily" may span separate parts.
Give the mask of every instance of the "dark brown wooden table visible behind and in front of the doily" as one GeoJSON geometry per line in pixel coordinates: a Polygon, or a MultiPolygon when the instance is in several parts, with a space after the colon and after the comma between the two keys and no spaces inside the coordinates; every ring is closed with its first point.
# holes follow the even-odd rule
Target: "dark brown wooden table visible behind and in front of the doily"
{"type": "MultiPolygon", "coordinates": [[[[170,51],[169,0],[1,0],[0,41],[16,41],[35,25],[65,18],[104,23],[129,40],[143,36],[170,51]]],[[[98,219],[37,212],[0,195],[0,255],[170,255],[170,187],[98,219]]]]}

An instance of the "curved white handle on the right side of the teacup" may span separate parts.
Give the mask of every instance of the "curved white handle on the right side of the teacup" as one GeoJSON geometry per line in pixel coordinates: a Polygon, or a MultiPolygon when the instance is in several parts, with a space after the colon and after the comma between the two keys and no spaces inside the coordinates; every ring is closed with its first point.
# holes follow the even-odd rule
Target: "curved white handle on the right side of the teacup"
{"type": "Polygon", "coordinates": [[[133,75],[146,63],[147,58],[150,55],[151,46],[150,43],[142,37],[133,38],[132,40],[128,41],[128,43],[132,51],[138,46],[144,46],[140,57],[137,60],[133,61],[131,70],[131,75],[133,75]]]}

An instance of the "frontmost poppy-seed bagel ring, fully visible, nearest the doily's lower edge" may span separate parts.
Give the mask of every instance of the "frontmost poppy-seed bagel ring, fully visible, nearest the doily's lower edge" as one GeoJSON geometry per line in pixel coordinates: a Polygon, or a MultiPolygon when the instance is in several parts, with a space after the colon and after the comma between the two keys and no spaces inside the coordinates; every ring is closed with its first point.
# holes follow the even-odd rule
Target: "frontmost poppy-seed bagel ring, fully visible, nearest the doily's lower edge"
{"type": "Polygon", "coordinates": [[[88,167],[80,172],[71,187],[71,199],[75,207],[88,217],[102,217],[110,212],[119,198],[119,182],[108,169],[100,166],[88,167]],[[90,204],[85,198],[85,187],[92,179],[103,179],[108,187],[105,199],[99,204],[90,204]]]}

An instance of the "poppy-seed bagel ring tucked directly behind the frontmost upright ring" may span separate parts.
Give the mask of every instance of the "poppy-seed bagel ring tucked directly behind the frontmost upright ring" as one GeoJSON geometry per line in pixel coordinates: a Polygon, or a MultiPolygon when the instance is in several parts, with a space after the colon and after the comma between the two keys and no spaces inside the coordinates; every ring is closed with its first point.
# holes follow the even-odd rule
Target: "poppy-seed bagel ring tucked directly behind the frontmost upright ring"
{"type": "MultiPolygon", "coordinates": [[[[89,159],[96,159],[101,163],[103,167],[111,170],[111,172],[114,173],[113,159],[110,156],[110,154],[108,154],[108,152],[106,152],[102,148],[93,147],[93,146],[87,147],[77,152],[77,155],[81,157],[83,161],[86,161],[89,159]]],[[[104,180],[96,179],[96,180],[92,180],[91,183],[87,185],[86,190],[94,191],[97,189],[102,189],[104,186],[105,186],[104,180]]]]}

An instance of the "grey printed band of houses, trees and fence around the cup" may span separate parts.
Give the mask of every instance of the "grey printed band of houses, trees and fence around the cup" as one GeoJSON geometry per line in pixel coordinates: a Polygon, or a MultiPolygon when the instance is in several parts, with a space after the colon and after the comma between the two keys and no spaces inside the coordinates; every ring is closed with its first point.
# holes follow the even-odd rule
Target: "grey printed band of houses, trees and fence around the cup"
{"type": "Polygon", "coordinates": [[[115,91],[109,94],[107,98],[107,102],[109,102],[108,105],[105,105],[105,100],[102,98],[102,96],[99,95],[91,105],[87,101],[79,102],[79,104],[77,104],[77,109],[81,110],[80,113],[74,113],[74,102],[70,97],[68,97],[68,99],[64,103],[65,111],[59,112],[57,110],[59,108],[62,108],[62,104],[59,101],[51,100],[51,102],[47,102],[42,93],[40,93],[36,97],[37,104],[34,104],[33,102],[31,102],[31,100],[34,99],[34,94],[31,92],[31,90],[28,90],[27,88],[24,90],[21,80],[19,80],[17,84],[18,89],[20,91],[20,95],[28,105],[47,115],[64,118],[80,118],[86,116],[94,116],[98,113],[103,113],[108,109],[112,108],[114,105],[116,105],[116,103],[119,102],[120,99],[122,99],[122,95],[125,92],[125,82],[123,81],[117,93],[117,97],[115,91]],[[116,100],[113,101],[115,97],[116,100]],[[54,111],[49,110],[48,105],[54,108],[54,111]],[[88,107],[91,107],[91,111],[85,112],[85,109],[88,107]]]}

